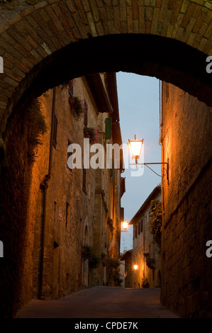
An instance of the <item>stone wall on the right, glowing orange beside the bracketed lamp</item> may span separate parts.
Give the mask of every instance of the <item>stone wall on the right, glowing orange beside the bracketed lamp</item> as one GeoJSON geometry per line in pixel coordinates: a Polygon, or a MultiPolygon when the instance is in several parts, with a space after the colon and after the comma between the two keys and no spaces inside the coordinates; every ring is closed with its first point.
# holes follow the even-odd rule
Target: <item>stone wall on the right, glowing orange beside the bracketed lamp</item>
{"type": "Polygon", "coordinates": [[[182,317],[211,317],[212,109],[162,83],[162,302],[182,317]]]}

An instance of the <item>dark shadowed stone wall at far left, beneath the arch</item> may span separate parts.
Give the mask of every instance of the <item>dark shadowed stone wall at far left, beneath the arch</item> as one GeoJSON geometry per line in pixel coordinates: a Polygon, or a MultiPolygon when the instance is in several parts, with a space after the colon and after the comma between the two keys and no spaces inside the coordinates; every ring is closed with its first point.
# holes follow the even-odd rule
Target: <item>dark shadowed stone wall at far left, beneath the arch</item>
{"type": "Polygon", "coordinates": [[[0,238],[4,242],[4,258],[0,263],[0,316],[5,317],[15,315],[31,297],[34,238],[29,217],[35,215],[31,203],[36,194],[30,193],[34,185],[31,146],[36,133],[30,135],[30,131],[37,126],[33,113],[19,109],[10,118],[4,136],[9,164],[0,182],[0,238]]]}

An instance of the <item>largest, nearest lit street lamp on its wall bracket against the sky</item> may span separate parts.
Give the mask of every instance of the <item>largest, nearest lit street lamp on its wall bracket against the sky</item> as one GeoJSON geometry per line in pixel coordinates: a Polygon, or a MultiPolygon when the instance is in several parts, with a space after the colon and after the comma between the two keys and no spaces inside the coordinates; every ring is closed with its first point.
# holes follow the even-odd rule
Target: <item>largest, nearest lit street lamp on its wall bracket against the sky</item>
{"type": "MultiPolygon", "coordinates": [[[[148,166],[149,164],[167,164],[167,181],[169,184],[169,159],[167,159],[167,162],[138,163],[142,145],[143,145],[143,140],[136,140],[136,136],[135,136],[135,140],[128,139],[128,146],[129,146],[129,149],[130,149],[130,152],[132,155],[132,159],[135,159],[135,164],[133,164],[133,165],[136,165],[136,166],[137,165],[147,165],[148,166]]],[[[149,167],[149,169],[152,170],[150,167],[149,167]]],[[[153,172],[155,172],[155,171],[153,171],[153,172]]],[[[156,172],[155,172],[155,174],[156,174],[156,172]]],[[[160,175],[157,174],[157,176],[160,176],[160,175]]]]}

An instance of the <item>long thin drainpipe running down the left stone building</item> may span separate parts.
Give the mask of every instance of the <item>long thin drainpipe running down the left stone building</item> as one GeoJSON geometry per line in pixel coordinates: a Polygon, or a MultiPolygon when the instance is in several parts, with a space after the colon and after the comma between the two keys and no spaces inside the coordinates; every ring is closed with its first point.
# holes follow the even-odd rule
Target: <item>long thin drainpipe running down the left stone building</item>
{"type": "Polygon", "coordinates": [[[48,181],[51,178],[52,172],[52,147],[53,147],[53,134],[54,134],[54,120],[55,120],[55,97],[56,97],[56,88],[53,88],[53,99],[52,99],[52,122],[51,122],[51,136],[50,136],[50,157],[49,157],[49,169],[48,174],[45,175],[43,181],[40,184],[40,189],[42,191],[42,218],[41,218],[41,251],[40,251],[40,278],[39,278],[39,289],[38,289],[38,298],[42,299],[42,287],[43,287],[43,258],[44,258],[44,245],[45,245],[45,220],[46,220],[46,198],[47,198],[47,189],[48,181]]]}

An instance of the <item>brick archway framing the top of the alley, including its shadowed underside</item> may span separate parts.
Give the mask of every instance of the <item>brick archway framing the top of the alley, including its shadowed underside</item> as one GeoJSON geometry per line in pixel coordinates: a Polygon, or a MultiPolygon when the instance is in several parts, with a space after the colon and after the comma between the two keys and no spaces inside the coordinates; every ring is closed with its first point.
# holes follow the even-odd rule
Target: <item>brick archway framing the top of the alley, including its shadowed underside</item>
{"type": "Polygon", "coordinates": [[[1,135],[22,96],[38,96],[88,72],[155,76],[212,105],[206,73],[206,55],[212,53],[210,2],[16,2],[13,11],[1,5],[1,135]]]}

